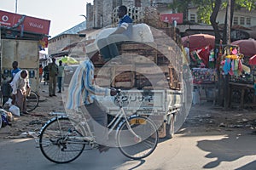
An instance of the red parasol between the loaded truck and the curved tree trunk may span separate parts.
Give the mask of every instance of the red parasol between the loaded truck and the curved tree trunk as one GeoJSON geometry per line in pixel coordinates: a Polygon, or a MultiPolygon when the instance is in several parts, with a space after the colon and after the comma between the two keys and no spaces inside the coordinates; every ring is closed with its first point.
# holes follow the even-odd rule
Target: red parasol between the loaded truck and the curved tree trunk
{"type": "Polygon", "coordinates": [[[188,47],[189,45],[190,51],[205,48],[207,46],[212,49],[215,45],[215,37],[208,34],[194,34],[191,36],[182,37],[182,42],[183,47],[188,47]]]}

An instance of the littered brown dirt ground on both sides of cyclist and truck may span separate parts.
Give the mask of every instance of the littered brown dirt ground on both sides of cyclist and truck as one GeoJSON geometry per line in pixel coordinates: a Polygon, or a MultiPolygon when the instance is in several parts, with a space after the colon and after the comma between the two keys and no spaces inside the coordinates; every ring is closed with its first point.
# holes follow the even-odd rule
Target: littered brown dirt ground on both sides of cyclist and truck
{"type": "MultiPolygon", "coordinates": [[[[67,89],[67,87],[65,88],[67,89]]],[[[64,112],[61,94],[56,93],[56,97],[49,97],[48,85],[44,85],[44,82],[40,84],[39,94],[38,108],[30,115],[15,116],[11,126],[0,129],[0,139],[32,138],[38,134],[42,125],[53,117],[49,113],[64,112]]],[[[203,102],[201,105],[192,105],[189,116],[183,124],[183,127],[186,126],[192,127],[189,128],[192,131],[190,133],[193,131],[211,133],[222,129],[236,130],[236,128],[240,128],[256,134],[256,109],[224,111],[223,108],[212,105],[211,102],[203,102]]]]}

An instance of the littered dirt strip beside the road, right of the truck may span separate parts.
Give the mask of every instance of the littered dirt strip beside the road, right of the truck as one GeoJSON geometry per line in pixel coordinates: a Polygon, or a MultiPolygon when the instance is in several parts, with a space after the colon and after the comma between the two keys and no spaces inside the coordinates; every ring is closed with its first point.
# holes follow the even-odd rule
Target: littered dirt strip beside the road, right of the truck
{"type": "Polygon", "coordinates": [[[256,108],[243,110],[233,108],[224,111],[223,107],[212,105],[209,102],[192,105],[183,127],[189,127],[191,133],[236,131],[239,128],[247,133],[256,134],[256,108]]]}

